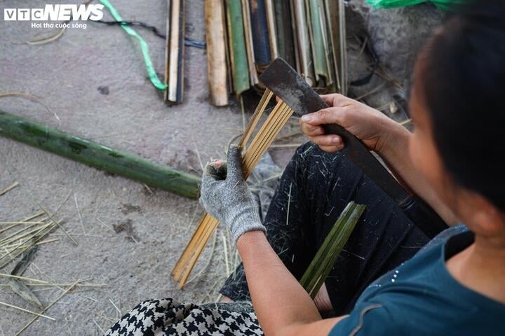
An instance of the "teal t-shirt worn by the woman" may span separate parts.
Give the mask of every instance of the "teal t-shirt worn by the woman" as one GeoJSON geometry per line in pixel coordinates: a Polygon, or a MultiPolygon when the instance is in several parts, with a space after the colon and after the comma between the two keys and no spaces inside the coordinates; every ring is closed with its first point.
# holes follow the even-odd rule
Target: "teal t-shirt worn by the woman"
{"type": "MultiPolygon", "coordinates": [[[[445,260],[473,243],[464,225],[449,228],[359,297],[330,336],[505,336],[505,304],[462,286],[445,260]]],[[[504,283],[505,289],[505,283],[504,283]]]]}

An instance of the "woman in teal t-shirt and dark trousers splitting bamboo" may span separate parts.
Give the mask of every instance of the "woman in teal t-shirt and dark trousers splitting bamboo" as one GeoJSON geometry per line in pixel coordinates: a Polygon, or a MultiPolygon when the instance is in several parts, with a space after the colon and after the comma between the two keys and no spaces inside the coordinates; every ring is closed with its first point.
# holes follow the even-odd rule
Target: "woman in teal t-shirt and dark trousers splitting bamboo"
{"type": "Polygon", "coordinates": [[[504,18],[503,1],[478,1],[431,38],[415,67],[413,133],[352,99],[323,96],[331,107],[301,119],[312,143],[285,169],[264,225],[240,149],[230,148],[227,166],[206,167],[201,202],[230,230],[247,276],[245,284],[239,267],[222,293],[250,295],[255,314],[172,301],[156,301],[156,310],[149,301],[109,333],[505,335],[505,163],[497,158],[505,145],[504,18]],[[324,134],[325,123],[361,139],[447,223],[465,225],[418,251],[429,239],[337,153],[345,144],[324,134]],[[350,200],[367,211],[314,302],[297,278],[350,200]],[[323,319],[325,310],[337,316],[323,319]]]}

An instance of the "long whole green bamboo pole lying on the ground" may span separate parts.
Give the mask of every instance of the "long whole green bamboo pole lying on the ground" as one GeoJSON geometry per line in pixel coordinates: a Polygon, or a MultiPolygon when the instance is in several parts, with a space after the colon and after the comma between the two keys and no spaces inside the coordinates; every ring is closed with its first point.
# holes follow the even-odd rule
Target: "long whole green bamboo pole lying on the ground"
{"type": "Polygon", "coordinates": [[[196,199],[200,178],[0,111],[0,135],[147,186],[196,199]]]}

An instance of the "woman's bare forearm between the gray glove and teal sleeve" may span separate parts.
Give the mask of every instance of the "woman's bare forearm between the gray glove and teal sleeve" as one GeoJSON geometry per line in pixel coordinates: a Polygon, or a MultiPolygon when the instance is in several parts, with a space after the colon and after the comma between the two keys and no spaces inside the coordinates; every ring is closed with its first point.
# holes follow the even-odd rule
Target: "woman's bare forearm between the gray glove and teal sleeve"
{"type": "Polygon", "coordinates": [[[323,320],[309,294],[284,266],[261,231],[237,241],[253,307],[265,335],[328,335],[345,316],[323,320]]]}

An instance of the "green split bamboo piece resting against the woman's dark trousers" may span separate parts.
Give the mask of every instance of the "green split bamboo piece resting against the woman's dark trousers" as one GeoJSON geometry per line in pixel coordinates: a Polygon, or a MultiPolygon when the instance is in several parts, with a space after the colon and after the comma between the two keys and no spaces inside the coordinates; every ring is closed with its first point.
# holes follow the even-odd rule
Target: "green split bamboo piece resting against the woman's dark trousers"
{"type": "Polygon", "coordinates": [[[355,202],[347,204],[300,279],[300,284],[312,298],[316,297],[319,289],[323,286],[365,209],[365,205],[355,202]]]}

